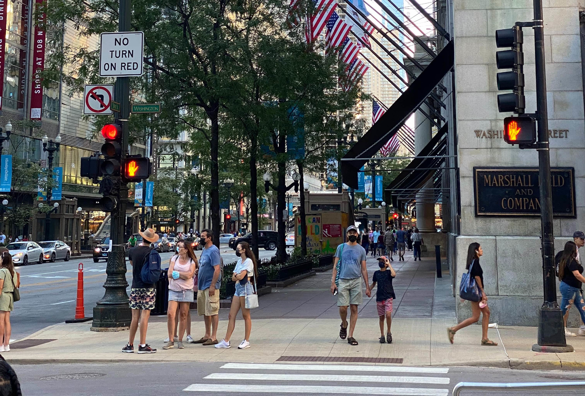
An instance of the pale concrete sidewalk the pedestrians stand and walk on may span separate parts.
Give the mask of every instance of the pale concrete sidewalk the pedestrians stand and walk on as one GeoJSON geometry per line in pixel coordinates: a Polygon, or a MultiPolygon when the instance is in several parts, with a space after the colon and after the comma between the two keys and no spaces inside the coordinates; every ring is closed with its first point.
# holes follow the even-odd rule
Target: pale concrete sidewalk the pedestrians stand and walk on
{"type": "MultiPolygon", "coordinates": [[[[370,276],[378,268],[368,257],[370,276]]],[[[378,343],[379,327],[375,292],[371,299],[364,294],[355,338],[358,346],[339,339],[339,316],[336,298],[331,295],[331,272],[275,289],[260,298],[260,308],[252,313],[252,347],[238,350],[243,338],[241,316],[236,322],[231,349],[215,349],[185,343],[185,349],[161,349],[167,337],[166,316],[152,317],[147,342],[159,349],[156,354],[122,353],[128,332],[95,333],[91,322],[49,326],[25,340],[36,346],[2,353],[13,364],[106,363],[123,361],[230,361],[274,363],[275,361],[318,361],[319,357],[352,358],[355,363],[372,363],[372,359],[394,358],[404,366],[483,366],[517,369],[585,370],[585,337],[568,339],[576,352],[546,354],[531,351],[537,328],[501,327],[490,329],[490,339],[500,345],[480,345],[478,325],[461,330],[450,345],[446,328],[455,324],[455,299],[450,296],[450,277],[435,278],[435,261],[394,261],[396,300],[390,345],[378,343]],[[499,330],[499,335],[498,335],[499,330]],[[500,338],[501,336],[501,338],[500,338]],[[369,359],[366,359],[369,358],[369,359]]],[[[225,335],[229,309],[220,310],[218,339],[225,335]]],[[[204,333],[202,318],[192,315],[192,336],[204,333]]],[[[135,340],[137,345],[137,340],[135,340]]],[[[322,359],[321,359],[322,360],[322,359]]],[[[339,361],[340,359],[337,359],[339,361]]],[[[374,361],[375,362],[375,361],[374,361]]],[[[322,363],[321,363],[322,364],[322,363]]]]}

